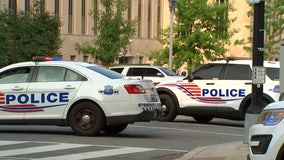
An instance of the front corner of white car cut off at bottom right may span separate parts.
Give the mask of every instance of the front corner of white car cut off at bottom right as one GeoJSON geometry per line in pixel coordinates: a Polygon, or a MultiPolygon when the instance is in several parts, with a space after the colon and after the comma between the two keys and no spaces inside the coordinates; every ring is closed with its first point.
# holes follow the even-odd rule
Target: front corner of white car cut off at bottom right
{"type": "Polygon", "coordinates": [[[284,159],[284,101],[266,106],[249,131],[251,160],[284,159]]]}

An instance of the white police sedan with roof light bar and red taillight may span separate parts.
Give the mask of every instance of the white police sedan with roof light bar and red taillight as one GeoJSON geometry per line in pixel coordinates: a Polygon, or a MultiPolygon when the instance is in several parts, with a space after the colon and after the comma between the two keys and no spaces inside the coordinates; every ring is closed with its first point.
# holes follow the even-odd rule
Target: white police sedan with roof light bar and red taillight
{"type": "Polygon", "coordinates": [[[151,81],[90,63],[46,61],[52,59],[0,69],[0,124],[67,125],[91,136],[157,119],[161,103],[151,81]]]}

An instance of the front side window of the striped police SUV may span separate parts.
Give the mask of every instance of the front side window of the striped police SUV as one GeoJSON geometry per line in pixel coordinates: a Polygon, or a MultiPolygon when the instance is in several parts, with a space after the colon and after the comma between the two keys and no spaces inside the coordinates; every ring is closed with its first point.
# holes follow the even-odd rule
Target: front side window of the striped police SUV
{"type": "Polygon", "coordinates": [[[224,64],[207,64],[193,72],[193,79],[212,80],[220,76],[224,64]]]}

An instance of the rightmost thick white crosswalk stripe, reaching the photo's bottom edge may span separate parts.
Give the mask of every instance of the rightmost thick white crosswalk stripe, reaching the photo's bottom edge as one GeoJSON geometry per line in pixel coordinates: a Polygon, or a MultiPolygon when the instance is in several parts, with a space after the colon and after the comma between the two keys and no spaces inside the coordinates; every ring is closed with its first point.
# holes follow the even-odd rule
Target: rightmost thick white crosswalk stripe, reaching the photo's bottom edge
{"type": "Polygon", "coordinates": [[[54,156],[54,157],[46,157],[46,158],[39,158],[38,160],[62,160],[62,159],[72,159],[72,160],[81,160],[81,159],[88,159],[88,158],[100,158],[100,157],[108,157],[108,156],[115,156],[121,154],[129,154],[129,153],[137,153],[137,152],[146,152],[152,151],[154,149],[151,148],[139,148],[139,147],[124,147],[124,148],[117,148],[117,149],[107,149],[102,151],[93,151],[93,152],[81,152],[80,154],[69,154],[69,155],[61,155],[61,156],[54,156]]]}

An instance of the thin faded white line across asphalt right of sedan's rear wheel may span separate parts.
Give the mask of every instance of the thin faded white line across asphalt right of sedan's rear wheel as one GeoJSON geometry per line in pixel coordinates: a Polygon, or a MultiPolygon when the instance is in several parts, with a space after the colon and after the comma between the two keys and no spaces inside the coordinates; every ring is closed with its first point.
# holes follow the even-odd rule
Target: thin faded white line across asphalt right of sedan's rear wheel
{"type": "Polygon", "coordinates": [[[225,135],[225,136],[237,136],[243,137],[242,134],[233,134],[233,133],[221,133],[221,132],[208,132],[208,131],[198,131],[191,129],[177,129],[177,128],[168,128],[168,127],[149,127],[149,126],[138,126],[138,125],[130,125],[131,127],[137,128],[150,128],[150,129],[161,129],[161,130],[172,130],[172,131],[184,131],[184,132],[195,132],[195,133],[205,133],[205,134],[216,134],[216,135],[225,135]]]}

